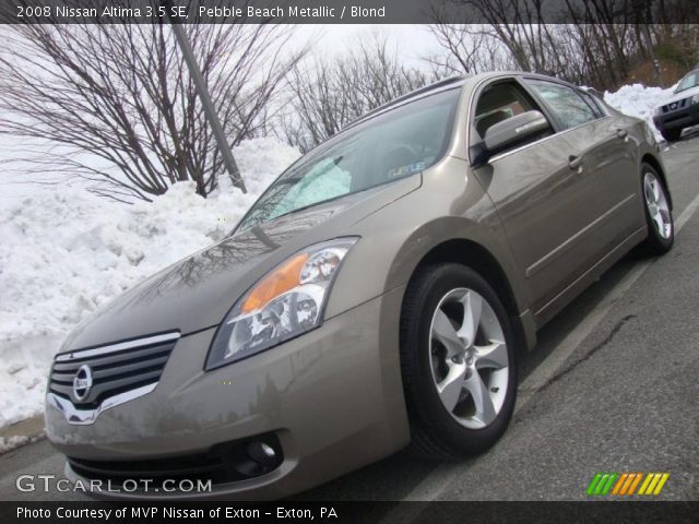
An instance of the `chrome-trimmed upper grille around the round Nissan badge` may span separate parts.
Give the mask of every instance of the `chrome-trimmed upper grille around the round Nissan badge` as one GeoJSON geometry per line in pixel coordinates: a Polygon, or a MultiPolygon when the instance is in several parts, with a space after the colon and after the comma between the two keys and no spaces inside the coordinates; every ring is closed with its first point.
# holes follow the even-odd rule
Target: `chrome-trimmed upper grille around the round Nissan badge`
{"type": "Polygon", "coordinates": [[[177,333],[156,335],[57,355],[48,391],[80,408],[98,407],[111,396],[158,382],[178,337],[177,333]],[[90,369],[92,385],[78,398],[73,381],[83,366],[90,369]]]}

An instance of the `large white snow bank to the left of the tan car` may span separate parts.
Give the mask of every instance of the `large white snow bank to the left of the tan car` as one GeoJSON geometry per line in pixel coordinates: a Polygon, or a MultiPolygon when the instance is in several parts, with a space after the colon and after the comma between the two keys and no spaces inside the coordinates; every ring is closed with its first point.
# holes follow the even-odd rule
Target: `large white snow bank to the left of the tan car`
{"type": "Polygon", "coordinates": [[[224,177],[209,199],[191,182],[131,206],[63,188],[0,210],[0,427],[40,412],[50,360],[76,323],[221,240],[299,155],[273,139],[244,142],[234,154],[247,194],[224,177]]]}

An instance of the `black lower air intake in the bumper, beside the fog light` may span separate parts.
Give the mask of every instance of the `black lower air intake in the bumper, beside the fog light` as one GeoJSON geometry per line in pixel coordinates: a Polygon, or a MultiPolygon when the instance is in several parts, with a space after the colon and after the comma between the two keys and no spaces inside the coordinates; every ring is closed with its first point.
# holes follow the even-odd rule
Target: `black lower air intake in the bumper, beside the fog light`
{"type": "Polygon", "coordinates": [[[211,480],[226,484],[264,475],[275,469],[284,461],[282,446],[275,433],[264,433],[245,440],[223,442],[210,450],[180,456],[152,458],[145,461],[94,461],[67,457],[70,467],[80,476],[109,480],[120,486],[125,480],[149,479],[159,485],[164,480],[211,480]],[[276,452],[272,463],[260,465],[250,458],[248,445],[264,442],[276,452]]]}

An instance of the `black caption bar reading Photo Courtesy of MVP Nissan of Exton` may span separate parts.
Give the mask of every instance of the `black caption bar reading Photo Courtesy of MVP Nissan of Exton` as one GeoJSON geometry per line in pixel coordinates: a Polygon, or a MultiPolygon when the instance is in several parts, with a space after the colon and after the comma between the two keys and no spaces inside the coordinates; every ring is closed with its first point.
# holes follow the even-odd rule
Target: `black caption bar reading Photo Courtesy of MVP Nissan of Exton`
{"type": "Polygon", "coordinates": [[[673,523],[699,502],[0,502],[0,522],[29,523],[673,523]]]}

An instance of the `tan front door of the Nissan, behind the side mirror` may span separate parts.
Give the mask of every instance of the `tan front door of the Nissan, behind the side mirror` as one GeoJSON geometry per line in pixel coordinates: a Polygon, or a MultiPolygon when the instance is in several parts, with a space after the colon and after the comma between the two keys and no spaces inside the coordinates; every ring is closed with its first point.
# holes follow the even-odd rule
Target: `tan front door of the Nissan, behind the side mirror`
{"type": "Polygon", "coordinates": [[[591,225],[606,205],[597,198],[589,158],[597,116],[581,98],[573,99],[579,104],[572,108],[571,100],[565,102],[567,114],[557,112],[549,97],[516,79],[495,81],[476,95],[471,130],[474,146],[489,126],[508,115],[536,109],[549,121],[546,136],[499,153],[475,169],[498,210],[533,312],[542,321],[556,296],[599,259],[599,248],[590,248],[591,225]]]}

